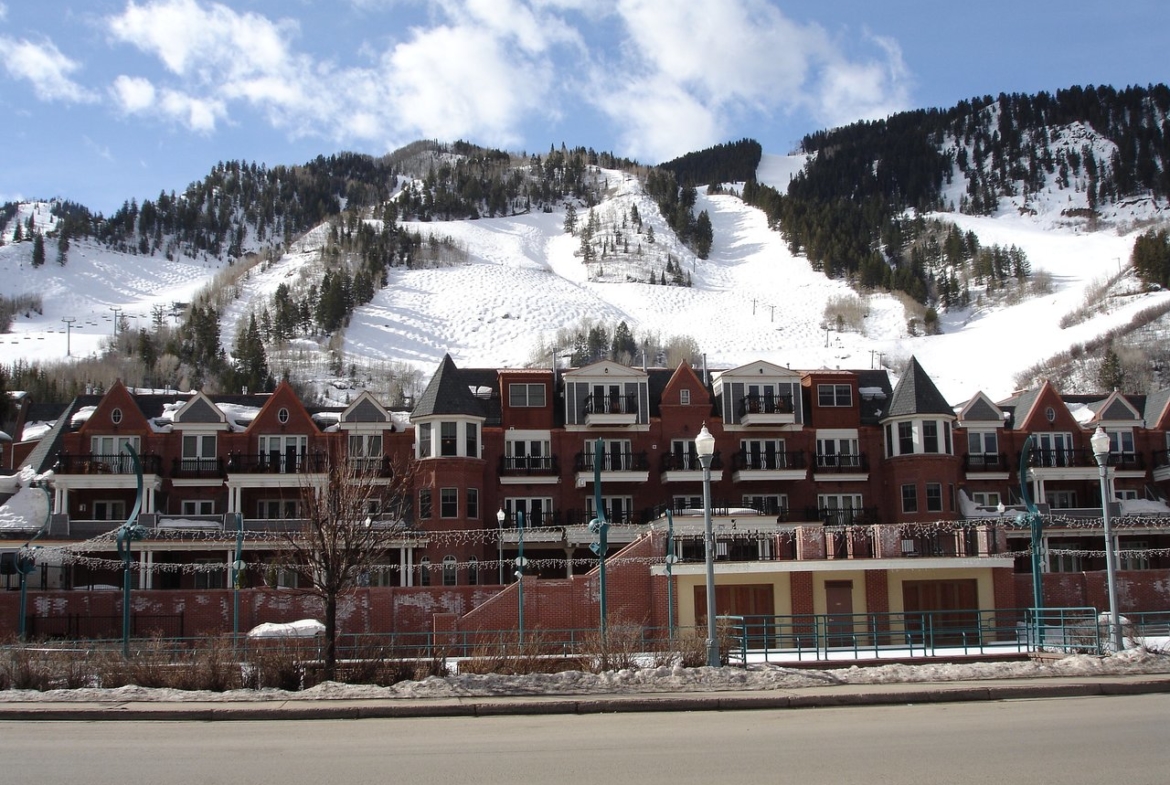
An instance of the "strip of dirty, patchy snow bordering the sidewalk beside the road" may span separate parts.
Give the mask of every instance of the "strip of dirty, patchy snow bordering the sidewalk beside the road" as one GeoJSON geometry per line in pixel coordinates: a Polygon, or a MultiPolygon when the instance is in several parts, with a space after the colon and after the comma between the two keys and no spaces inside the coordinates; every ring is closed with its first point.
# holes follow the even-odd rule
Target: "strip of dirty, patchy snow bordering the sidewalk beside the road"
{"type": "Polygon", "coordinates": [[[928,662],[874,667],[791,668],[753,665],[746,668],[659,668],[611,670],[600,674],[570,670],[525,676],[456,675],[399,682],[391,687],[325,682],[298,693],[284,690],[184,691],[144,687],[117,689],[0,690],[0,702],[92,701],[319,701],[452,698],[504,695],[628,695],[635,693],[703,693],[777,690],[832,684],[894,684],[1044,679],[1058,676],[1117,676],[1170,673],[1170,656],[1130,649],[1116,656],[1074,655],[1051,662],[928,662]]]}

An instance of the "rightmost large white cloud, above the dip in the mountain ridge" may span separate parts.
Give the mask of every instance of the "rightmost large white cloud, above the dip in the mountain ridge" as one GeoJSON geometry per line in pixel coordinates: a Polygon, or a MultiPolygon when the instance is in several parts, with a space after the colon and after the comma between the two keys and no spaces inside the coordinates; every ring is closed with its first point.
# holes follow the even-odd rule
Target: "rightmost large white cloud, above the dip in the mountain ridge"
{"type": "Polygon", "coordinates": [[[665,160],[725,142],[750,115],[803,109],[835,125],[908,103],[895,42],[868,39],[881,57],[854,62],[823,28],[798,25],[764,0],[617,0],[614,11],[626,34],[622,57],[594,70],[591,94],[640,157],[665,160]],[[626,99],[601,90],[615,82],[626,99]],[[663,132],[659,118],[688,125],[663,132]]]}

